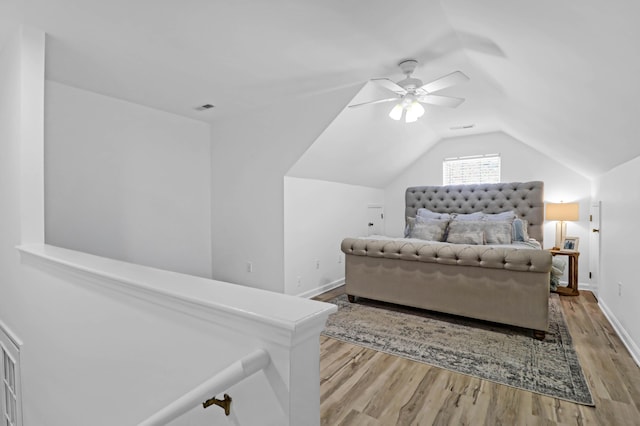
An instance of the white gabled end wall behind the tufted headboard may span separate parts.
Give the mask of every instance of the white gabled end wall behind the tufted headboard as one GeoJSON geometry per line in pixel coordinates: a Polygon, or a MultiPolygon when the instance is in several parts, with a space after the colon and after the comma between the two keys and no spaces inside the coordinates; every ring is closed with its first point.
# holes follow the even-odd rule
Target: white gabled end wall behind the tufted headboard
{"type": "MultiPolygon", "coordinates": [[[[552,156],[502,133],[486,133],[443,139],[427,151],[385,188],[385,219],[388,235],[400,236],[404,230],[404,193],[409,186],[442,185],[442,160],[447,157],[493,154],[501,156],[502,182],[544,181],[546,202],[579,202],[580,221],[567,223],[567,235],[580,238],[578,278],[589,284],[589,206],[591,181],[569,170],[552,156]]],[[[555,242],[555,222],[544,227],[544,246],[555,242]]],[[[585,287],[586,288],[586,287],[585,287]]]]}

